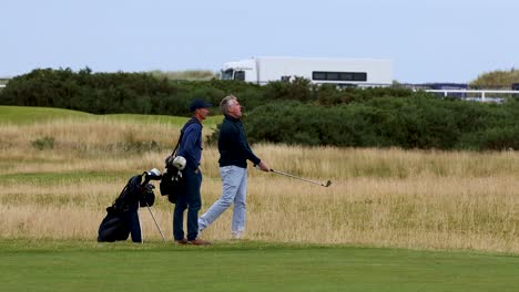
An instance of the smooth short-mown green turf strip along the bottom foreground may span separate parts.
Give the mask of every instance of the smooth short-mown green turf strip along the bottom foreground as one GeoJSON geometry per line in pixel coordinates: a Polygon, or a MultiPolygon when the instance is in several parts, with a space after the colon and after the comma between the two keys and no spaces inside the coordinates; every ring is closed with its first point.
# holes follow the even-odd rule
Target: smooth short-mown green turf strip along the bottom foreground
{"type": "Polygon", "coordinates": [[[0,291],[517,291],[519,258],[355,247],[0,243],[0,291]]]}

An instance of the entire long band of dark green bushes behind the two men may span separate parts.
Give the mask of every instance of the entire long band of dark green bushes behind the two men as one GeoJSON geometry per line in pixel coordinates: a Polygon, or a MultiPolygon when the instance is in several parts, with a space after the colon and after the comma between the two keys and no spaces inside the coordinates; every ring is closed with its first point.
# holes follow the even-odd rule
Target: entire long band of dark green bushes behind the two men
{"type": "MultiPolygon", "coordinates": [[[[50,106],[94,114],[189,116],[204,98],[216,108],[240,98],[248,138],[301,145],[437,149],[519,147],[519,102],[502,105],[442,100],[399,87],[338,88],[296,77],[258,86],[240,81],[172,81],[146,73],[78,73],[39,69],[12,79],[0,104],[50,106]]],[[[220,111],[213,111],[220,113],[220,111]]],[[[218,133],[210,137],[217,139],[218,133]]],[[[37,140],[34,147],[49,147],[37,140]]],[[[132,145],[132,148],[146,148],[132,145]]],[[[151,146],[150,146],[151,147],[151,146]]]]}

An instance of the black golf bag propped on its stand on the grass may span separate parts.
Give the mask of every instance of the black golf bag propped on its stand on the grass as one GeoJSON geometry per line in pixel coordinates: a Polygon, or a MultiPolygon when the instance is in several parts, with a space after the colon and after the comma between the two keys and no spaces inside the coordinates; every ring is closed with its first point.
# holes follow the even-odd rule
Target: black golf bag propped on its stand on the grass
{"type": "Polygon", "coordinates": [[[149,181],[146,173],[130,178],[113,205],[106,208],[106,216],[98,231],[99,242],[126,240],[130,234],[133,242],[142,242],[138,209],[155,202],[155,187],[149,181]],[[141,182],[143,177],[145,179],[141,182]]]}

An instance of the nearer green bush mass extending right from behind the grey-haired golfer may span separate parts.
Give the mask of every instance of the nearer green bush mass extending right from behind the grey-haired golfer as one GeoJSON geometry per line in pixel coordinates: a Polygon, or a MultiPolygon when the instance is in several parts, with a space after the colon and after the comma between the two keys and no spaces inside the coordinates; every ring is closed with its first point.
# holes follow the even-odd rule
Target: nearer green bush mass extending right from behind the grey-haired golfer
{"type": "Polygon", "coordinates": [[[519,123],[510,112],[515,113],[518,107],[502,108],[447,102],[427,94],[378,97],[334,107],[284,101],[255,108],[244,123],[251,143],[421,149],[517,148],[519,123]]]}

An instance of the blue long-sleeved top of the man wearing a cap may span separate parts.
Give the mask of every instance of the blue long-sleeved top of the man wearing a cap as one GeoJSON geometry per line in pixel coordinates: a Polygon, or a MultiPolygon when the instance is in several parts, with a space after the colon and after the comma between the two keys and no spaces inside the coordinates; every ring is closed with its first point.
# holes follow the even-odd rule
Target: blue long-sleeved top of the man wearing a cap
{"type": "Polygon", "coordinates": [[[202,158],[202,124],[195,117],[185,123],[182,128],[183,136],[179,145],[177,156],[183,156],[186,167],[196,169],[202,158]]]}

